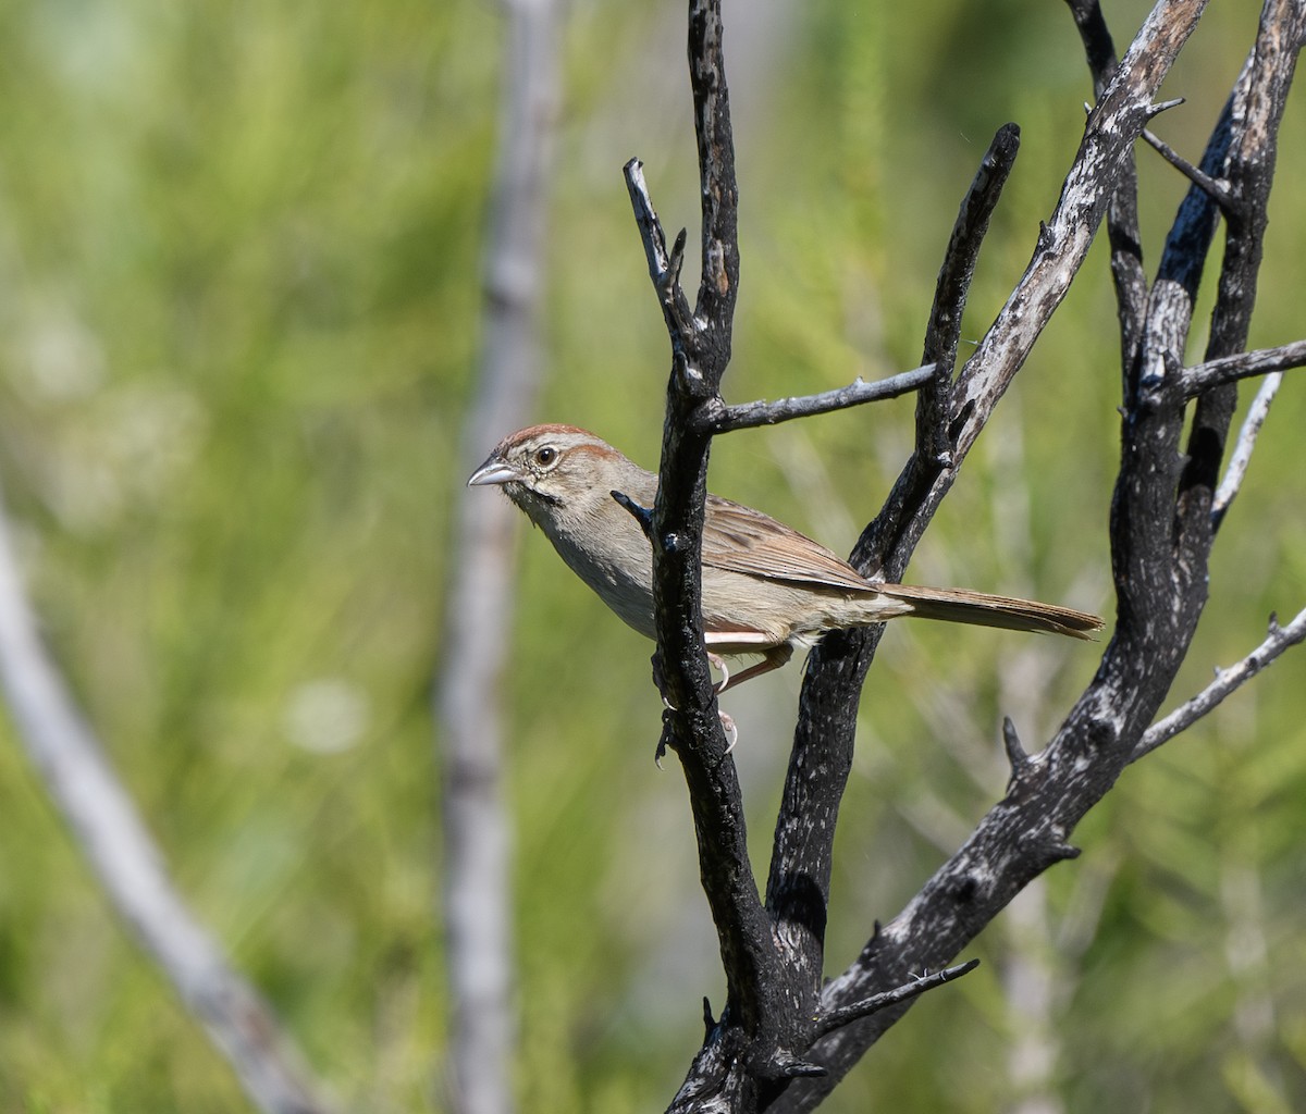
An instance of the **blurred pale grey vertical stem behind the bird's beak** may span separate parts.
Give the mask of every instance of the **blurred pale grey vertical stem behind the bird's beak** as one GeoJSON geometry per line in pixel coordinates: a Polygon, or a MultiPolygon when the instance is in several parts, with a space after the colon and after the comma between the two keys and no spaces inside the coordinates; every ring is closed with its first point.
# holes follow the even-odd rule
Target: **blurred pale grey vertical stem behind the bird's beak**
{"type": "MultiPolygon", "coordinates": [[[[560,64],[560,0],[511,0],[502,63],[499,153],[486,227],[477,397],[461,475],[526,424],[539,380],[560,64]]],[[[464,491],[448,547],[441,639],[445,964],[452,1019],[444,1098],[454,1114],[511,1114],[516,1062],[512,837],[503,788],[503,686],[513,614],[516,511],[464,491]]]]}

